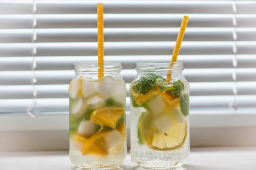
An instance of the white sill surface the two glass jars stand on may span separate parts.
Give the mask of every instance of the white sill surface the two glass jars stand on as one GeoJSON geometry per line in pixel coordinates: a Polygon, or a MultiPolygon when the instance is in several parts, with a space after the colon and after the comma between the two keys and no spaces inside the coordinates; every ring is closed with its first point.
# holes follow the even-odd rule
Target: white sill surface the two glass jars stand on
{"type": "MultiPolygon", "coordinates": [[[[178,170],[255,170],[255,147],[195,148],[178,170]]],[[[78,170],[68,152],[1,153],[1,170],[78,170]]],[[[131,162],[128,154],[117,170],[144,170],[131,162]]]]}

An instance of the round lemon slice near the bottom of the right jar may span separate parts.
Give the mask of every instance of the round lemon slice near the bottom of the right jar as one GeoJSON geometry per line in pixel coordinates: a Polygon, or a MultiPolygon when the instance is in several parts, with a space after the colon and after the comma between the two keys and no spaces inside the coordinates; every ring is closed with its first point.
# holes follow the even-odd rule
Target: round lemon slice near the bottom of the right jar
{"type": "Polygon", "coordinates": [[[166,133],[161,133],[156,128],[151,128],[147,145],[151,150],[158,151],[181,149],[186,142],[187,132],[187,122],[174,123],[166,133]]]}

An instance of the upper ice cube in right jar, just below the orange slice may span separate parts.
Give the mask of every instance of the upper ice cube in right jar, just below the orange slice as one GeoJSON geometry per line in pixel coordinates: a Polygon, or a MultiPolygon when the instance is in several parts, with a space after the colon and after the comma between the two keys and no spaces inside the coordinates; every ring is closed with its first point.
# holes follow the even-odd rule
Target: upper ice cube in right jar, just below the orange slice
{"type": "Polygon", "coordinates": [[[156,96],[148,102],[150,111],[157,116],[166,108],[166,102],[161,96],[156,96]]]}

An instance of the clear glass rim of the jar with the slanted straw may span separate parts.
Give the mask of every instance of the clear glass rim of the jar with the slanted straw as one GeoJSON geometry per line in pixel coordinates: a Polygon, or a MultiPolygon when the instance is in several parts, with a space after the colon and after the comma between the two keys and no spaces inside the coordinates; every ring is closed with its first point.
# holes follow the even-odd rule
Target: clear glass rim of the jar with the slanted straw
{"type": "Polygon", "coordinates": [[[136,71],[183,71],[183,62],[137,62],[136,71]]]}

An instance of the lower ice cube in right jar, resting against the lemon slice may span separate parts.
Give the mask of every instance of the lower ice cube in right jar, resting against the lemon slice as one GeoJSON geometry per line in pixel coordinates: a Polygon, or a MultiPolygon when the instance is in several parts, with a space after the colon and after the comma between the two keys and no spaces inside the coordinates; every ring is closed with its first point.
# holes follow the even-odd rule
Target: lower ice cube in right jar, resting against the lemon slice
{"type": "Polygon", "coordinates": [[[172,127],[172,120],[169,118],[169,116],[167,115],[162,115],[160,117],[158,117],[155,121],[154,121],[154,125],[157,128],[157,130],[161,133],[166,133],[168,132],[171,127],[172,127]]]}

